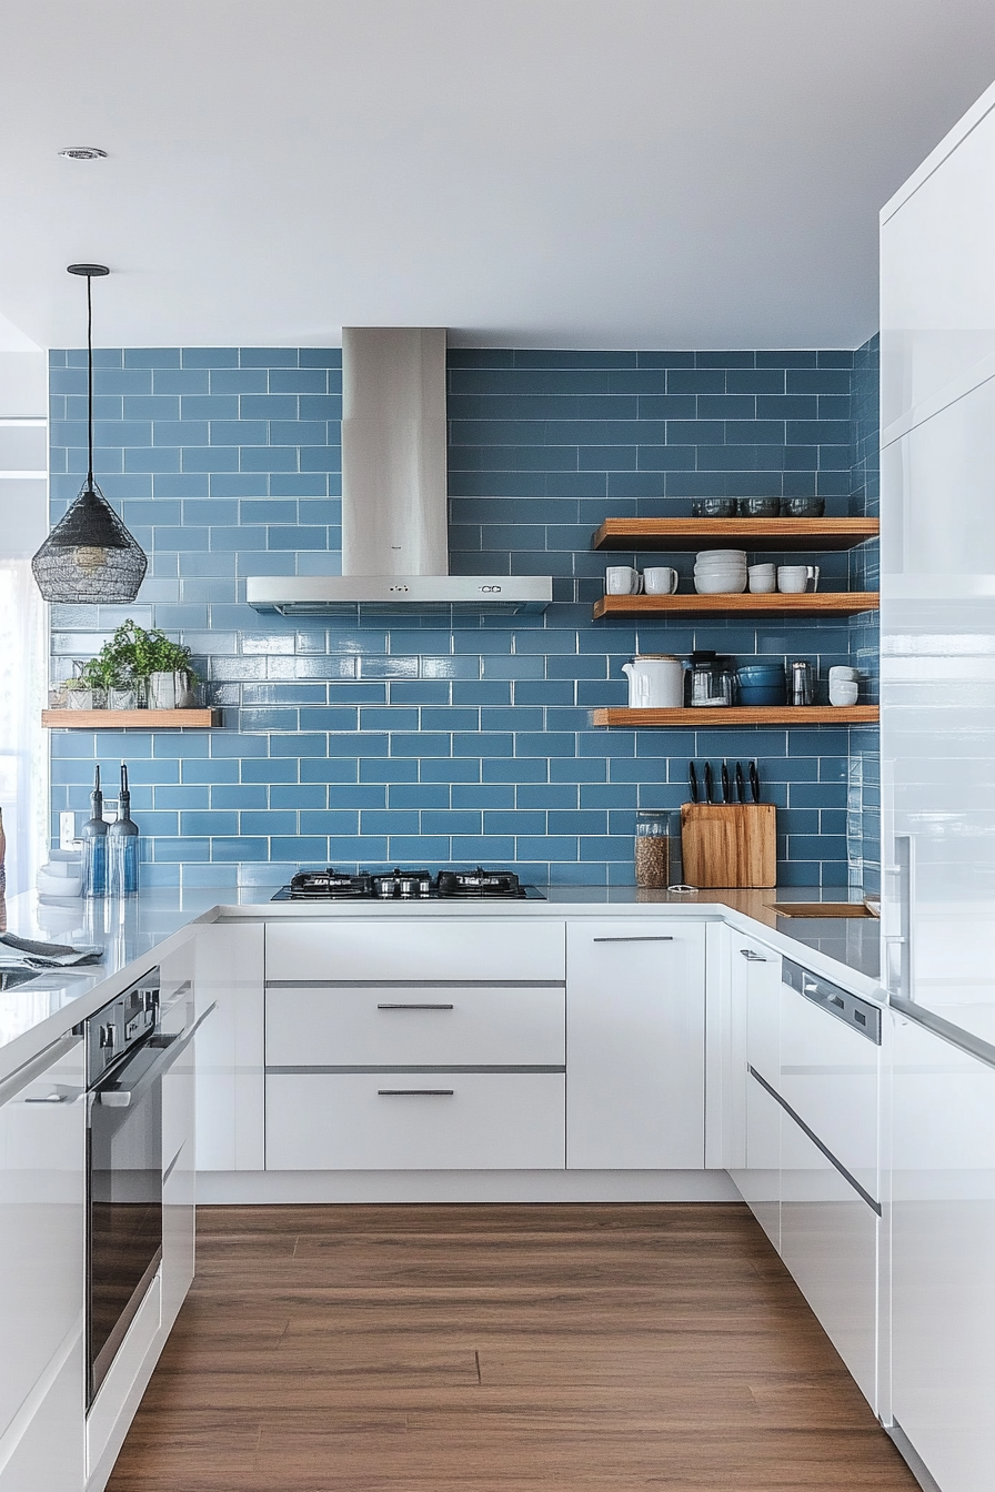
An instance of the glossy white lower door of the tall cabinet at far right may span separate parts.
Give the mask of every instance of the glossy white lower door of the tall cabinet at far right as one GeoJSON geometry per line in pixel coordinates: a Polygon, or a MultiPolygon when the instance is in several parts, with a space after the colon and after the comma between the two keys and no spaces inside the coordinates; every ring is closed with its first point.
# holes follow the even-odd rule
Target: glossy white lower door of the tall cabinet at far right
{"type": "Polygon", "coordinates": [[[943,1492],[991,1492],[995,1070],[892,1019],[892,1413],[943,1492]]]}

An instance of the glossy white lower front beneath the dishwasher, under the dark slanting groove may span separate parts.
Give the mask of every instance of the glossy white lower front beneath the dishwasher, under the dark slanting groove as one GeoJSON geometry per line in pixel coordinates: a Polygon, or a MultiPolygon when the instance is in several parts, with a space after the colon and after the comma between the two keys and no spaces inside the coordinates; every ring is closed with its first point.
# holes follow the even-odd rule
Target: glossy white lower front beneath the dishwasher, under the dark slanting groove
{"type": "Polygon", "coordinates": [[[871,1405],[879,1217],[791,1115],[780,1125],[780,1256],[871,1405]]]}

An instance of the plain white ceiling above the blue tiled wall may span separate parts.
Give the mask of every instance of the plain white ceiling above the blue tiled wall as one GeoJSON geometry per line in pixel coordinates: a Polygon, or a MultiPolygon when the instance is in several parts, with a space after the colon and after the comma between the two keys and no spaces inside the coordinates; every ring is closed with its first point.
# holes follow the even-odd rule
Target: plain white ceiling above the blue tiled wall
{"type": "Polygon", "coordinates": [[[0,343],[97,260],[106,346],[856,346],[992,78],[992,0],[12,0],[0,343]]]}

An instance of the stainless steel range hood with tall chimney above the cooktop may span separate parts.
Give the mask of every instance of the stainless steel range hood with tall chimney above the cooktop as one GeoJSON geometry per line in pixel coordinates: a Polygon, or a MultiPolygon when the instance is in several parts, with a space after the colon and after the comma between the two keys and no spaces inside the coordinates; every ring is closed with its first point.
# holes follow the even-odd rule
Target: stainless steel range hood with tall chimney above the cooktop
{"type": "Polygon", "coordinates": [[[445,327],[345,327],[342,394],[342,576],[251,576],[249,606],[543,612],[550,576],[449,574],[445,327]]]}

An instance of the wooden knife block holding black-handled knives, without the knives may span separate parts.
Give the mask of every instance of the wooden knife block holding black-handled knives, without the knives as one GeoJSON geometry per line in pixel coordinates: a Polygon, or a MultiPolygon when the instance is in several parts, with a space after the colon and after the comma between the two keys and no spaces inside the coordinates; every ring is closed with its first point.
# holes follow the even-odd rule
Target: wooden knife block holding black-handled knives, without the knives
{"type": "Polygon", "coordinates": [[[773,803],[685,803],[680,846],[689,886],[777,885],[773,803]]]}

